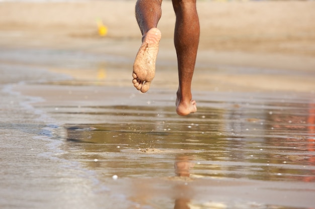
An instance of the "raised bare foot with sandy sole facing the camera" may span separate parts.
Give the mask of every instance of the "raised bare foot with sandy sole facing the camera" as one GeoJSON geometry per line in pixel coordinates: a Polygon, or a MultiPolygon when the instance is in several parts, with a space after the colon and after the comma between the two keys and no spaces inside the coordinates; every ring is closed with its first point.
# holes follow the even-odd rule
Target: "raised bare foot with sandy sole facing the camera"
{"type": "Polygon", "coordinates": [[[147,92],[155,75],[155,61],[159,52],[161,32],[151,28],[142,38],[142,45],[133,64],[132,83],[137,90],[147,92]]]}

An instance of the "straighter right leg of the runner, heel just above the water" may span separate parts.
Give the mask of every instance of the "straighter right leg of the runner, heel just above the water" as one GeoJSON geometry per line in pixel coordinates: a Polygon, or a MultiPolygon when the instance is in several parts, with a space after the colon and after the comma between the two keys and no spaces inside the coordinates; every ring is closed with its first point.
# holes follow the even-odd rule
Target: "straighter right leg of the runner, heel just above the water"
{"type": "Polygon", "coordinates": [[[176,14],[174,44],[179,75],[176,112],[179,115],[188,115],[197,111],[196,101],[192,100],[191,81],[196,63],[200,26],[196,0],[172,0],[172,2],[176,14]]]}

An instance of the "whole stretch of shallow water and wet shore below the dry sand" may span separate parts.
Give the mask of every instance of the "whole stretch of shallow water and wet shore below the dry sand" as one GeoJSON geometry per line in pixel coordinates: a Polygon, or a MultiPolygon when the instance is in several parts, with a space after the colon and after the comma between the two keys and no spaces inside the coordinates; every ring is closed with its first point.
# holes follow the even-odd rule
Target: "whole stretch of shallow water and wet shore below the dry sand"
{"type": "Polygon", "coordinates": [[[314,208],[314,94],[196,91],[181,117],[172,90],[4,59],[1,208],[314,208]]]}

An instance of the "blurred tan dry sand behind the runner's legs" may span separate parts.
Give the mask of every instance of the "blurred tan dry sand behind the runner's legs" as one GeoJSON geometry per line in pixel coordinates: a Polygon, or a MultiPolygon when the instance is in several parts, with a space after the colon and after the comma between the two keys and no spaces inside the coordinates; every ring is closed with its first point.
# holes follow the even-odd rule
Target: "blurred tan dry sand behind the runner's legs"
{"type": "MultiPolygon", "coordinates": [[[[132,61],[141,40],[134,18],[135,2],[3,2],[0,3],[0,47],[81,50],[121,56],[130,60],[127,76],[131,79],[132,61]],[[108,27],[106,37],[98,36],[97,19],[108,27]]],[[[195,89],[205,88],[197,82],[203,79],[204,83],[210,86],[215,83],[223,90],[315,90],[315,1],[197,3],[201,40],[195,89]],[[253,68],[254,73],[206,70],[222,66],[253,68]],[[287,73],[273,76],[265,69],[287,73]]],[[[158,62],[176,65],[174,25],[172,3],[164,1],[158,26],[162,31],[158,62]]],[[[161,80],[166,77],[167,72],[157,73],[156,84],[159,80],[163,84],[161,80]]]]}

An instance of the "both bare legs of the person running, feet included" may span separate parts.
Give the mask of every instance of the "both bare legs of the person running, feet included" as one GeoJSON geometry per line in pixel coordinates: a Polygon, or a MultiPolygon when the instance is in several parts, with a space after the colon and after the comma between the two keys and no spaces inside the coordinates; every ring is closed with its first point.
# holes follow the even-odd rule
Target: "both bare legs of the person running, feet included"
{"type": "MultiPolygon", "coordinates": [[[[177,52],[179,87],[176,112],[188,115],[197,111],[192,100],[191,81],[199,44],[199,19],[196,0],[172,0],[176,14],[174,44],[177,52]]],[[[155,61],[159,51],[161,32],[157,23],[162,15],[162,0],[138,0],[136,19],[142,33],[142,45],[133,64],[133,85],[146,92],[155,75],[155,61]]]]}

